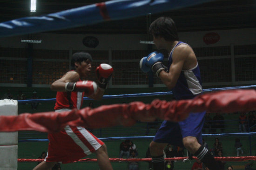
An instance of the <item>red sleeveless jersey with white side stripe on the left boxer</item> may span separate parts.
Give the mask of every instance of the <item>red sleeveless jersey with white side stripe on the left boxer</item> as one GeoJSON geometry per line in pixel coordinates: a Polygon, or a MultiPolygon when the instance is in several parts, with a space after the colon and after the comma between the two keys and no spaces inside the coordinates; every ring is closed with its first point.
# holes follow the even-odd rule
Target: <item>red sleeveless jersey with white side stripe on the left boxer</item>
{"type": "MultiPolygon", "coordinates": [[[[79,81],[81,81],[79,79],[79,81]]],[[[62,108],[81,109],[84,92],[57,92],[54,110],[62,108]]]]}

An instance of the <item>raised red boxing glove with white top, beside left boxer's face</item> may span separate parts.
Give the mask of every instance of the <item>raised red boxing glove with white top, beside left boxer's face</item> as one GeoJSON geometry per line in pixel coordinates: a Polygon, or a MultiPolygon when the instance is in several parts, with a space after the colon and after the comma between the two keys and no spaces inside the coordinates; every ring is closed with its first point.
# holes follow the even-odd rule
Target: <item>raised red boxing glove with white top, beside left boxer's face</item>
{"type": "Polygon", "coordinates": [[[107,84],[109,79],[112,76],[114,69],[109,64],[100,64],[99,67],[96,68],[96,75],[99,80],[99,88],[101,90],[105,90],[107,88],[107,84]]]}

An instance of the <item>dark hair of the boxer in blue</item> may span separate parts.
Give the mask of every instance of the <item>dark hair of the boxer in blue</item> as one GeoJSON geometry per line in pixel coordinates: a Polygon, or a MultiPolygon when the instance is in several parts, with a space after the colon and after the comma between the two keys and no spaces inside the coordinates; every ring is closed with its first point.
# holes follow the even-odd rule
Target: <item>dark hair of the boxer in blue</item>
{"type": "Polygon", "coordinates": [[[169,17],[160,17],[149,26],[149,34],[162,37],[166,41],[178,41],[178,31],[175,22],[169,17]]]}

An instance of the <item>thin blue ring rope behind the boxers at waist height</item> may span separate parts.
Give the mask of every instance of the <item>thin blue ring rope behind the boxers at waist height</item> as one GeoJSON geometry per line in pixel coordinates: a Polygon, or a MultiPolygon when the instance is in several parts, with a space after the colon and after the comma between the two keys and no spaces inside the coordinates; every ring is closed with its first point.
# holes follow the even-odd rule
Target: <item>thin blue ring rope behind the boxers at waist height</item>
{"type": "MultiPolygon", "coordinates": [[[[226,87],[226,88],[208,88],[208,89],[204,89],[203,92],[210,92],[210,91],[217,91],[217,90],[241,89],[241,88],[256,88],[256,85],[226,87]]],[[[139,93],[139,94],[104,95],[103,99],[142,97],[142,96],[155,96],[155,95],[170,95],[170,94],[172,94],[171,91],[169,91],[169,92],[154,92],[154,93],[139,93]]],[[[88,98],[88,97],[84,97],[83,100],[93,100],[93,99],[88,98]]],[[[22,100],[22,101],[18,101],[18,103],[22,104],[22,103],[33,103],[33,102],[43,102],[43,101],[56,101],[56,99],[53,98],[53,99],[22,100]]]]}

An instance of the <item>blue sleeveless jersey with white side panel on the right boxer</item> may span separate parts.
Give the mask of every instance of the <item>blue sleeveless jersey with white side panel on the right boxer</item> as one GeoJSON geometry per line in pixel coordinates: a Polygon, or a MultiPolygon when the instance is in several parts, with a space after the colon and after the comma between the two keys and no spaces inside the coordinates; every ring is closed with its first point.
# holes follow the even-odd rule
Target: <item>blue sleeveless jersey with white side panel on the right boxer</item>
{"type": "MultiPolygon", "coordinates": [[[[170,65],[172,64],[173,51],[180,44],[186,44],[179,41],[170,52],[168,57],[168,72],[170,65]]],[[[189,44],[186,44],[189,46],[189,44]]],[[[180,99],[192,99],[195,95],[202,93],[202,81],[200,76],[200,70],[198,63],[190,70],[182,70],[175,87],[172,89],[173,95],[176,100],[180,99]]]]}

